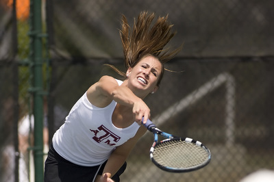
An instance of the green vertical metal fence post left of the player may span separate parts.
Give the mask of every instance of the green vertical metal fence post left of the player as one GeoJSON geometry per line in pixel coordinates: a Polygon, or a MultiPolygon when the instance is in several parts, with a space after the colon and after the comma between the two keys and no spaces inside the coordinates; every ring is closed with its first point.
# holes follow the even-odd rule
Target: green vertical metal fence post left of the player
{"type": "Polygon", "coordinates": [[[34,180],[43,181],[43,92],[42,92],[42,15],[41,0],[30,1],[30,68],[34,99],[34,180]]]}

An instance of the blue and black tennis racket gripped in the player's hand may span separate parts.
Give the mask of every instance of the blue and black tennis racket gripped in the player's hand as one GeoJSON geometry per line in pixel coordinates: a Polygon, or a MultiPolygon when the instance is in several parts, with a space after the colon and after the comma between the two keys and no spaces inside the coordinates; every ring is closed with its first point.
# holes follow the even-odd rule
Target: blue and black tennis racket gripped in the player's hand
{"type": "Polygon", "coordinates": [[[203,168],[210,162],[210,150],[201,142],[165,133],[151,120],[147,120],[143,125],[154,134],[149,156],[158,168],[168,172],[190,172],[203,168]],[[162,135],[166,140],[158,142],[158,135],[162,135]]]}

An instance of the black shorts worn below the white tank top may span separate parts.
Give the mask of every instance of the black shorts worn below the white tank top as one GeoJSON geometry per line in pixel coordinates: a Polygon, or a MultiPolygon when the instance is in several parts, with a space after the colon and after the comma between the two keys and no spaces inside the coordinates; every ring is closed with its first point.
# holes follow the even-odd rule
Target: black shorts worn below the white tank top
{"type": "MultiPolygon", "coordinates": [[[[103,168],[105,167],[107,161],[99,166],[79,166],[67,161],[61,157],[53,148],[52,144],[49,147],[49,155],[45,161],[45,182],[90,182],[94,181],[97,174],[102,174],[103,168]]],[[[119,169],[119,171],[114,174],[112,179],[115,182],[119,182],[119,176],[125,171],[127,163],[119,169]]]]}

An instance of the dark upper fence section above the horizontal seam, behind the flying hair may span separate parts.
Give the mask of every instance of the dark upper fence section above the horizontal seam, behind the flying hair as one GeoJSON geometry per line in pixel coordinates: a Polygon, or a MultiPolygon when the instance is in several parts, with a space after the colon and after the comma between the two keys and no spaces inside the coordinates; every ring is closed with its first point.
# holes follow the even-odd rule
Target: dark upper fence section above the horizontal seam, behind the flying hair
{"type": "Polygon", "coordinates": [[[273,1],[47,1],[52,58],[123,57],[119,38],[121,14],[132,25],[141,11],[169,14],[184,42],[178,57],[273,55],[273,1]]]}

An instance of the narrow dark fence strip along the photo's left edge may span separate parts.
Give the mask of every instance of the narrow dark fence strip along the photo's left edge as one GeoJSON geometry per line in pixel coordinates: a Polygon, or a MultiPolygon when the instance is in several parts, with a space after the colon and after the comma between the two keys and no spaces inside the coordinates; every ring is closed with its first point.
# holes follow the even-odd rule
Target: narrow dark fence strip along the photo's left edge
{"type": "Polygon", "coordinates": [[[18,168],[18,66],[14,12],[0,1],[0,181],[14,181],[18,168]]]}

